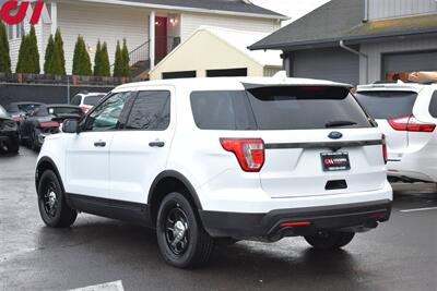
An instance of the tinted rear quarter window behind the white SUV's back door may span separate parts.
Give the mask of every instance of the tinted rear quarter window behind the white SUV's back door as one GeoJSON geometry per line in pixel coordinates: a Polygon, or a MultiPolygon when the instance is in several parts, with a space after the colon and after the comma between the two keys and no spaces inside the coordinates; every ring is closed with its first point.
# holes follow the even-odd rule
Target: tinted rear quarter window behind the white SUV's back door
{"type": "Polygon", "coordinates": [[[247,94],[239,90],[191,93],[191,110],[201,130],[256,130],[247,94]]]}

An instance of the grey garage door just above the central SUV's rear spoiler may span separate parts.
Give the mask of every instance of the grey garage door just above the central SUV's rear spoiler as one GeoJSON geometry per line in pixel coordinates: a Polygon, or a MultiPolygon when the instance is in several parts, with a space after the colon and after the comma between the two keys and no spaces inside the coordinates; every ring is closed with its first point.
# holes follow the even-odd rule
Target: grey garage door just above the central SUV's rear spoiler
{"type": "Polygon", "coordinates": [[[359,59],[342,49],[312,49],[294,52],[291,61],[292,75],[330,80],[357,85],[359,59]]]}

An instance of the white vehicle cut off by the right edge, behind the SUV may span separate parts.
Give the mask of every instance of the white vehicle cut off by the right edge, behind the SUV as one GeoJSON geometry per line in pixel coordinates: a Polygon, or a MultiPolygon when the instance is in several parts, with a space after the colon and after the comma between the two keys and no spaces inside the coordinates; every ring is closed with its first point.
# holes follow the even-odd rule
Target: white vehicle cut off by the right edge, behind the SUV
{"type": "Polygon", "coordinates": [[[387,136],[390,179],[437,182],[437,84],[366,85],[356,97],[387,136]]]}

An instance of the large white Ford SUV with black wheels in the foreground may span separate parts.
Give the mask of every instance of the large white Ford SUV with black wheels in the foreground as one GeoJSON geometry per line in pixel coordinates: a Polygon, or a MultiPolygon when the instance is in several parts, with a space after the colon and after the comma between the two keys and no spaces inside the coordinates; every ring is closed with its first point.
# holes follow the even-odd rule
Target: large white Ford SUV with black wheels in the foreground
{"type": "Polygon", "coordinates": [[[205,263],[217,240],[338,248],[390,216],[382,135],[347,85],[134,83],[63,132],[36,166],[43,220],[69,227],[83,211],[156,228],[177,267],[205,263]]]}

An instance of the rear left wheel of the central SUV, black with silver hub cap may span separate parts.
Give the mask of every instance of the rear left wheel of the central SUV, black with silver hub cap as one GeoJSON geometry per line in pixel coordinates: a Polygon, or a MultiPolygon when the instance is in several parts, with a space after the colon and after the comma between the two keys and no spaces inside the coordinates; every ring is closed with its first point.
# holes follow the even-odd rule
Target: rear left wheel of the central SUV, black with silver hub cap
{"type": "Polygon", "coordinates": [[[156,225],[161,254],[167,264],[192,268],[208,263],[214,240],[204,231],[196,208],[182,194],[175,192],[164,198],[156,225]]]}

